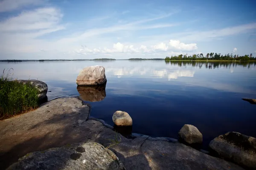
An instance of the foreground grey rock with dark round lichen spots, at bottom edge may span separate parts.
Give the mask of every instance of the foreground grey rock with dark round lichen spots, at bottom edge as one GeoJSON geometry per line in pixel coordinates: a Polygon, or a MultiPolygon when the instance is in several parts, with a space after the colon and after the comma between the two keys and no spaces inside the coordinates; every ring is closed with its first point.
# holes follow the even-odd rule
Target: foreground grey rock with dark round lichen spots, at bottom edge
{"type": "Polygon", "coordinates": [[[7,170],[125,170],[111,151],[96,142],[51,148],[23,156],[7,170]],[[80,151],[80,152],[79,152],[80,151]]]}

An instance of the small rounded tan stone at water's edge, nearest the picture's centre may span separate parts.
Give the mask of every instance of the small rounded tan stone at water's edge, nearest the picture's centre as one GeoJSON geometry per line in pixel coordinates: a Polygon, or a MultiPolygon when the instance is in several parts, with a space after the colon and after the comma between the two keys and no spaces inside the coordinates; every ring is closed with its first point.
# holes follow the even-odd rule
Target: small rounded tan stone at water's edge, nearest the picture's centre
{"type": "Polygon", "coordinates": [[[116,111],[112,116],[112,120],[117,126],[132,126],[131,116],[125,111],[116,111]]]}

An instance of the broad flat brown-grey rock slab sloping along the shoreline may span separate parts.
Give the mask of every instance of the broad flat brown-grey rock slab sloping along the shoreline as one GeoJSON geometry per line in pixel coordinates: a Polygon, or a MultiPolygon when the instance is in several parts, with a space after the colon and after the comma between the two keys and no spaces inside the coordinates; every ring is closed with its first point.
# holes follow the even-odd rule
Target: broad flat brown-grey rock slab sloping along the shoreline
{"type": "MultiPolygon", "coordinates": [[[[0,169],[9,167],[27,153],[75,143],[97,142],[113,151],[127,170],[243,170],[229,161],[209,156],[168,138],[146,135],[125,138],[102,122],[87,120],[90,109],[77,98],[52,101],[36,112],[0,122],[0,169]],[[70,101],[70,104],[65,105],[64,101],[70,101]],[[61,104],[65,107],[61,108],[61,104]],[[46,108],[51,108],[51,113],[47,113],[46,108]]],[[[81,160],[86,152],[86,149],[83,152],[79,147],[84,146],[73,147],[70,155],[76,154],[69,157],[70,162],[81,160]]]]}

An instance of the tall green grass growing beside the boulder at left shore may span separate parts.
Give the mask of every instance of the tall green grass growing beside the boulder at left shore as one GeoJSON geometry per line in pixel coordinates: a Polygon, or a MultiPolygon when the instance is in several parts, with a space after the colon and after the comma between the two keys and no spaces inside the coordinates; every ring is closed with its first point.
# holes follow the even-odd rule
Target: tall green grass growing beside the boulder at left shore
{"type": "Polygon", "coordinates": [[[38,90],[13,80],[11,70],[3,70],[0,77],[0,119],[31,111],[39,106],[38,90]]]}

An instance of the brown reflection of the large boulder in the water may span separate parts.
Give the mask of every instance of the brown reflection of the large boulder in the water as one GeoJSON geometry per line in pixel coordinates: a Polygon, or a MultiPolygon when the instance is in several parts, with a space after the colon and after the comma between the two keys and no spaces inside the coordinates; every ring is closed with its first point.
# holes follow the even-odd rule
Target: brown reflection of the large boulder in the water
{"type": "Polygon", "coordinates": [[[89,102],[102,101],[106,96],[106,83],[104,85],[77,86],[81,99],[89,102]]]}

